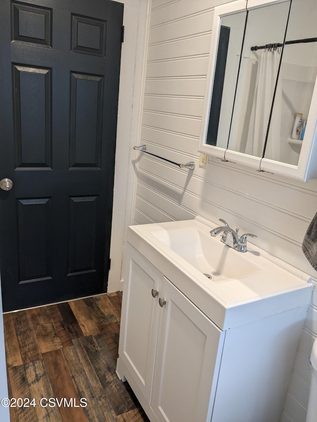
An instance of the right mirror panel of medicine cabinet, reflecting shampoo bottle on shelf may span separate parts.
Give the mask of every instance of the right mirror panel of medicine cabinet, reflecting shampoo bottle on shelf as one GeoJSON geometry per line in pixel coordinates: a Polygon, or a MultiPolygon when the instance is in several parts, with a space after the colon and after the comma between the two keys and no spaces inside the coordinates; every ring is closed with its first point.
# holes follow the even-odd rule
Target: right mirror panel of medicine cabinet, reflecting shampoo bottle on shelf
{"type": "Polygon", "coordinates": [[[317,75],[316,22],[316,1],[292,0],[264,158],[298,165],[317,75]]]}

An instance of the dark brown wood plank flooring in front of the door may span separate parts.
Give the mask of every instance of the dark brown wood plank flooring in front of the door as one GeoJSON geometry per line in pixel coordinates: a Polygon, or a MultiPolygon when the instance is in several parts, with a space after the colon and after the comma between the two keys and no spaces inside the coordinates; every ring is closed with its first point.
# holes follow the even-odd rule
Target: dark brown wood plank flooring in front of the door
{"type": "Polygon", "coordinates": [[[9,397],[36,404],[10,408],[11,422],[149,421],[115,373],[121,299],[108,293],[3,315],[9,397]]]}

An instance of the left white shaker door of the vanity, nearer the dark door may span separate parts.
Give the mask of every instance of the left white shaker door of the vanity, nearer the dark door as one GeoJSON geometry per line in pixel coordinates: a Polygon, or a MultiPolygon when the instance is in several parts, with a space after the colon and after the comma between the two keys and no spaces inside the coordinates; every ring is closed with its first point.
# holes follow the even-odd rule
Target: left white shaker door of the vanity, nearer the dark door
{"type": "MultiPolygon", "coordinates": [[[[162,274],[127,244],[122,297],[119,359],[149,403],[159,324],[158,295],[162,274]]],[[[127,377],[127,374],[120,374],[127,377]]],[[[129,379],[128,379],[129,381],[129,379]]]]}

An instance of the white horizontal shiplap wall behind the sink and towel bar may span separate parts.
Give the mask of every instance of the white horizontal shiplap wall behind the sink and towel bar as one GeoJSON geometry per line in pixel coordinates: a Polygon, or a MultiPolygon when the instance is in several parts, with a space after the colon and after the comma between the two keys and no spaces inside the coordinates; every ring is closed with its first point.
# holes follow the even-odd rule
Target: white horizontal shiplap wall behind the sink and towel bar
{"type": "MultiPolygon", "coordinates": [[[[176,162],[179,169],[136,153],[135,224],[224,218],[255,243],[313,277],[301,251],[317,212],[317,180],[301,183],[210,158],[199,167],[198,139],[211,42],[213,8],[223,0],[152,0],[140,144],[176,162]]],[[[317,294],[309,308],[282,415],[304,422],[317,336],[317,294]]],[[[272,381],[273,382],[273,381],[272,381]]]]}

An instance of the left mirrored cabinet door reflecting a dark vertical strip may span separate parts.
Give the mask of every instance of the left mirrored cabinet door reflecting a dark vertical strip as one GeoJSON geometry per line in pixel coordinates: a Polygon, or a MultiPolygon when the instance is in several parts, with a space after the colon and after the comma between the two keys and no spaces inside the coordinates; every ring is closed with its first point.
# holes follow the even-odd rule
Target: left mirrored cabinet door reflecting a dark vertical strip
{"type": "Polygon", "coordinates": [[[219,158],[228,145],[246,17],[247,0],[222,4],[213,13],[200,150],[219,158]]]}

